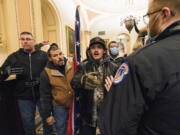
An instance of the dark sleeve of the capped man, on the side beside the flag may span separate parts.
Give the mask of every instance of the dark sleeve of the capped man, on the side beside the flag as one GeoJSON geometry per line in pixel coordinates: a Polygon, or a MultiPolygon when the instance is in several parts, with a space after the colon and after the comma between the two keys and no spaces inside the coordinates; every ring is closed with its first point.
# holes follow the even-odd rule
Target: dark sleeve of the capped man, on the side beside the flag
{"type": "Polygon", "coordinates": [[[72,81],[71,81],[71,87],[73,89],[81,89],[83,86],[81,84],[81,78],[84,75],[83,66],[80,64],[78,65],[77,72],[74,74],[72,81]]]}

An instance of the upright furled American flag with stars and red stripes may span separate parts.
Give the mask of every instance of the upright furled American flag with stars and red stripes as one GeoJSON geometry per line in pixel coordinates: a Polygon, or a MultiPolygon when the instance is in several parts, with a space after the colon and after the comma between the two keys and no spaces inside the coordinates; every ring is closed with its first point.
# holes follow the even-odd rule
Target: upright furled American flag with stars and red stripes
{"type": "MultiPolygon", "coordinates": [[[[79,18],[80,6],[77,5],[75,12],[75,50],[74,50],[74,72],[77,71],[77,65],[81,60],[80,53],[80,18],[79,18]]],[[[68,135],[79,135],[79,93],[74,92],[74,99],[69,108],[69,117],[67,124],[67,134],[68,135]]]]}

